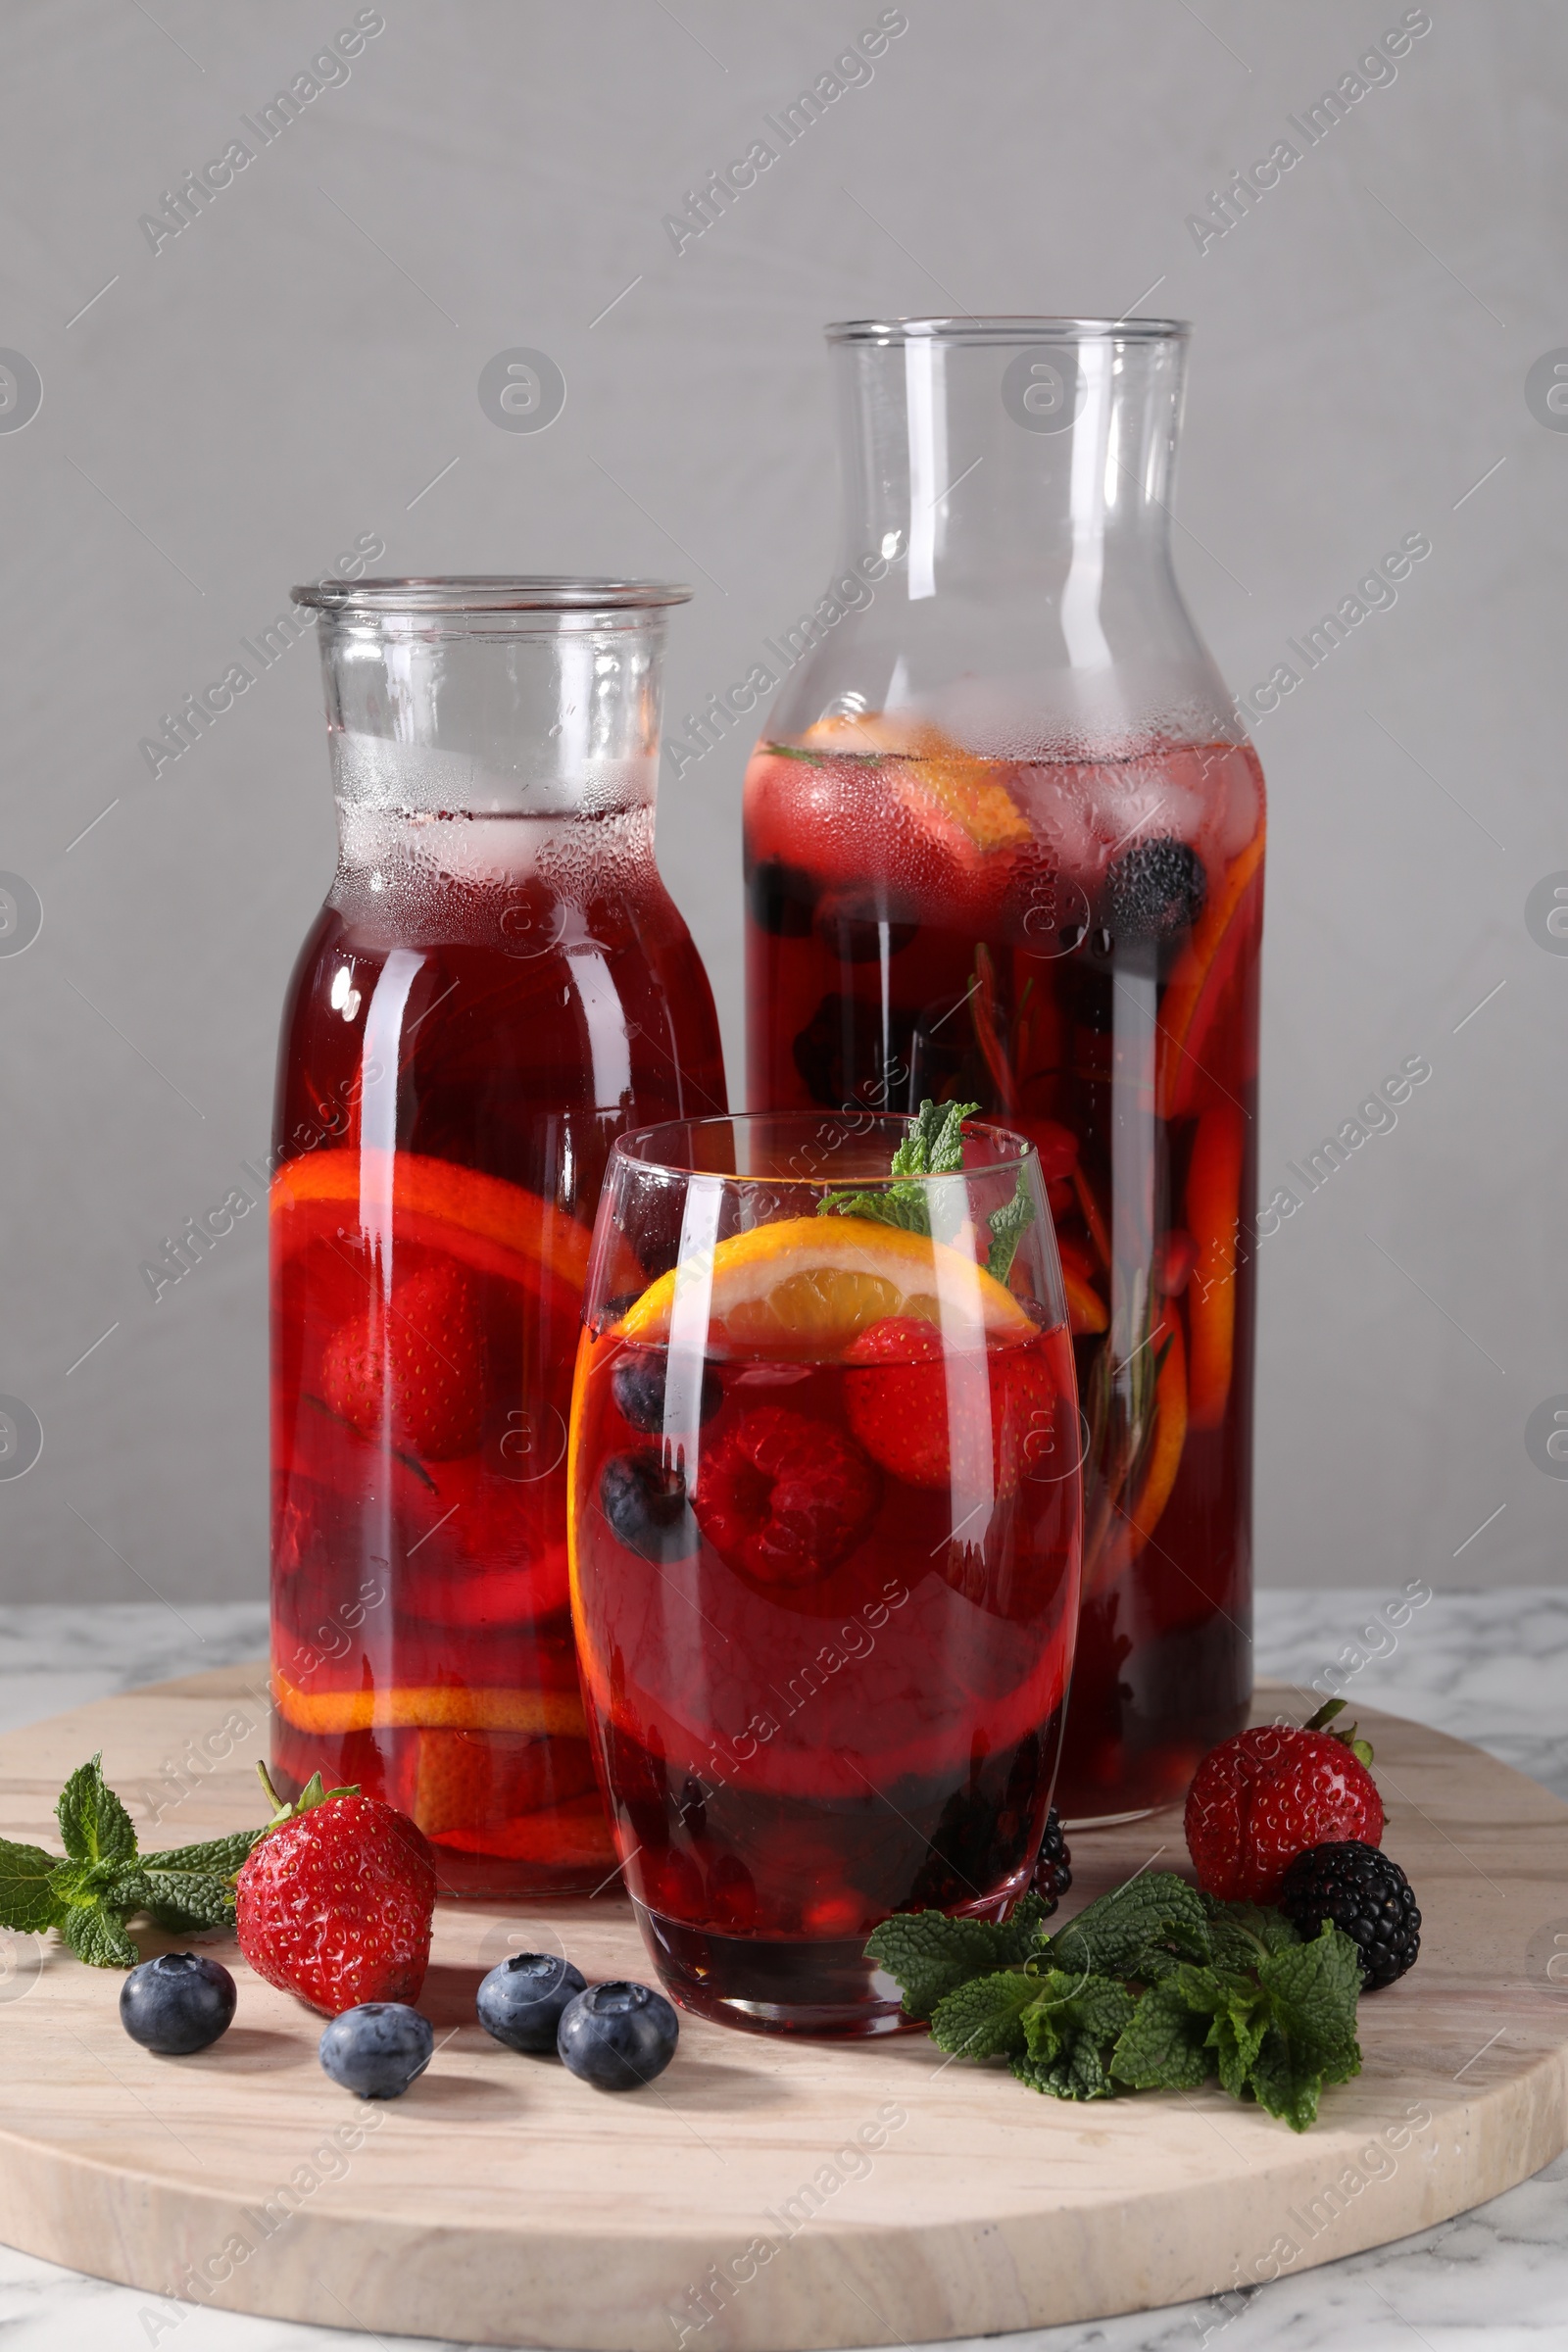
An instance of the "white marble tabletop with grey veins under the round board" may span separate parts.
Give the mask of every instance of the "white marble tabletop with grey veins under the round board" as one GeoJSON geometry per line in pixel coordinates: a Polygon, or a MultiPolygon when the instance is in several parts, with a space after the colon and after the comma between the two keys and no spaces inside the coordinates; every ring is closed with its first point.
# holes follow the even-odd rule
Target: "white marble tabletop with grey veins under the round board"
{"type": "MultiPolygon", "coordinates": [[[[1439,1595],[1401,1630],[1380,1616],[1394,1592],[1265,1592],[1258,1668],[1312,1686],[1359,1653],[1340,1682],[1354,1705],[1476,1740],[1568,1797],[1568,1595],[1439,1595]],[[1380,1651],[1382,1656],[1371,1656],[1380,1651]]],[[[0,1609],[0,1729],[68,1705],[252,1658],[266,1611],[252,1604],[0,1609]]],[[[5,2216],[0,2216],[0,2232],[5,2216]]],[[[7,2352],[367,2352],[386,2338],[190,2307],[179,2326],[125,2286],[108,2286],[0,2246],[0,2340],[7,2352]]],[[[1523,2352],[1568,2345],[1568,2157],[1490,2204],[1420,2237],[1255,2288],[1246,2303],[1185,2303],[1093,2326],[990,2336],[999,2352],[1523,2352]]],[[[397,2338],[400,2352],[437,2352],[397,2338]]],[[[461,2352],[461,2347],[444,2347],[461,2352]]],[[[947,2347],[959,2352],[959,2347],[947,2347]]],[[[969,2352],[969,2347],[964,2347],[969,2352]]],[[[980,2340],[973,2343],[980,2352],[980,2340]]]]}

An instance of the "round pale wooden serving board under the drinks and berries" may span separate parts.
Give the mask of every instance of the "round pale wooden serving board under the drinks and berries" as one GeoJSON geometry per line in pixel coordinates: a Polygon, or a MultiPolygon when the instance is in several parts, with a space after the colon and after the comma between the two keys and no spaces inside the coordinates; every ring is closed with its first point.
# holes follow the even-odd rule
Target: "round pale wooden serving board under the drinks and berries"
{"type": "MultiPolygon", "coordinates": [[[[1258,1715],[1286,1696],[1265,1686],[1258,1715]]],[[[1363,1729],[1425,1947],[1361,2004],[1366,2067],[1300,2138],[1218,2091],[1072,2107],[924,2034],[788,2042],[701,2018],[658,2084],[609,2098],[501,2049],[473,1997],[520,1947],[651,1976],[630,1907],[454,1903],[421,2002],[437,2056],[388,2105],[322,2074],[320,2020],[233,1945],[235,2025],[172,2060],[120,2030],[120,1976],[9,1938],[0,2234],[143,2288],[150,2343],[183,2296],[592,2352],[983,2336],[1403,2237],[1568,2145],[1568,1985],[1549,1973],[1568,1955],[1568,1806],[1436,1731],[1363,1729]]],[[[99,1748],[143,1844],[242,1828],[263,1745],[261,1668],[78,1708],[0,1740],[0,1835],[54,1846],[61,1780],[99,1748]]],[[[1157,1853],[1185,1863],[1175,1813],[1072,1844],[1070,1907],[1157,1853]]]]}

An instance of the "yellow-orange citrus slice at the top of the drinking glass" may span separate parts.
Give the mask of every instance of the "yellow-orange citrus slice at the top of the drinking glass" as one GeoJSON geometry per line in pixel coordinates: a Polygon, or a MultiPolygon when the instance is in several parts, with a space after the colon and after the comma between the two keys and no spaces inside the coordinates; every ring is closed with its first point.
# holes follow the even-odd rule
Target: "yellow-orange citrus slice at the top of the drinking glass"
{"type": "Polygon", "coordinates": [[[722,1324],[731,1345],[825,1355],[886,1315],[940,1324],[954,1345],[964,1334],[983,1345],[1034,1329],[1013,1294],[961,1249],[863,1216],[788,1216],[731,1235],[661,1275],[628,1310],[621,1338],[665,1341],[686,1301],[696,1327],[722,1324]]]}

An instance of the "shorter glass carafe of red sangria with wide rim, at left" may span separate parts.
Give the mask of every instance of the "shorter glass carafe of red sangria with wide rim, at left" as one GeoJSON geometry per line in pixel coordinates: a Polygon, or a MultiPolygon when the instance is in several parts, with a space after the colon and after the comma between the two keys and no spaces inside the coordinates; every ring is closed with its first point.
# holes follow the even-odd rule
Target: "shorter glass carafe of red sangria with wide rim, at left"
{"type": "Polygon", "coordinates": [[[456,1893],[597,1886],[567,1416],[609,1148],[724,1108],[654,863],[656,581],[299,588],[339,868],[273,1136],[273,1764],[456,1893]]]}

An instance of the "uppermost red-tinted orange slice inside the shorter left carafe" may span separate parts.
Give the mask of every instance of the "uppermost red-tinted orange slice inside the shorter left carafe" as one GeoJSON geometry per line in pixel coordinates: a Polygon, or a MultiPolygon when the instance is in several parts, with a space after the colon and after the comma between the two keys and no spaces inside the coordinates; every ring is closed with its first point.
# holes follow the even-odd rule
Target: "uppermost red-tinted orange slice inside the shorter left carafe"
{"type": "Polygon", "coordinates": [[[303,1152],[273,1176],[273,1237],[280,1251],[329,1240],[341,1225],[357,1230],[360,1200],[383,1202],[390,1190],[397,1237],[444,1249],[480,1275],[543,1289],[545,1279],[581,1294],[590,1232],[538,1192],[433,1160],[423,1152],[341,1148],[303,1152]]]}

